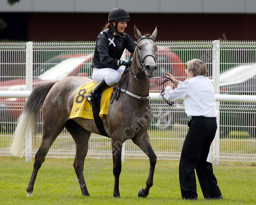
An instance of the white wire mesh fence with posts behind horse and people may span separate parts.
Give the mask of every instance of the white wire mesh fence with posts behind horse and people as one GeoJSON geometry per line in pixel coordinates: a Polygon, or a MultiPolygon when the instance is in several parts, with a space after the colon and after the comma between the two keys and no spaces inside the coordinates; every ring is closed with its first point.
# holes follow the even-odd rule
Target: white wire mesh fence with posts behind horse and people
{"type": "MultiPolygon", "coordinates": [[[[65,76],[91,77],[91,60],[95,42],[1,42],[0,90],[31,90],[42,81],[59,80],[65,76]],[[32,78],[33,76],[33,78],[32,78]]],[[[186,61],[201,58],[207,64],[208,77],[216,94],[255,95],[256,42],[157,42],[157,77],[164,72],[184,79],[186,61]]],[[[126,58],[129,54],[126,55],[126,58]]],[[[159,93],[155,77],[151,79],[151,93],[159,93]]],[[[0,155],[10,155],[7,149],[25,99],[0,98],[0,155]]],[[[158,159],[179,159],[187,134],[188,118],[183,101],[172,107],[163,101],[151,101],[153,119],[148,130],[158,159]]],[[[213,144],[213,160],[256,161],[255,103],[217,102],[220,110],[219,129],[213,144]]],[[[41,117],[38,128],[41,128],[41,117]]],[[[38,150],[41,133],[32,153],[38,150]]],[[[87,157],[99,157],[108,152],[111,141],[92,134],[87,157]]],[[[132,143],[125,142],[125,158],[147,158],[132,143]]],[[[57,137],[48,155],[74,157],[75,144],[66,130],[57,137]]]]}

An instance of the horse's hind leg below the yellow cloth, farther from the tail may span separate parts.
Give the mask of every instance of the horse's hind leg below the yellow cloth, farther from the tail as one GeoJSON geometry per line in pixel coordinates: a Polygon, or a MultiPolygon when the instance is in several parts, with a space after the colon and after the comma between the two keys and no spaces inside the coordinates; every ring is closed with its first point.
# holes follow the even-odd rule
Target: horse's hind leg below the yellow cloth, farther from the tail
{"type": "Polygon", "coordinates": [[[76,143],[76,156],[75,156],[73,166],[77,175],[81,192],[83,196],[90,196],[85,184],[83,171],[84,171],[84,159],[87,155],[88,141],[89,141],[91,132],[85,130],[83,127],[78,125],[73,120],[67,121],[66,129],[71,134],[71,136],[73,137],[76,143]]]}

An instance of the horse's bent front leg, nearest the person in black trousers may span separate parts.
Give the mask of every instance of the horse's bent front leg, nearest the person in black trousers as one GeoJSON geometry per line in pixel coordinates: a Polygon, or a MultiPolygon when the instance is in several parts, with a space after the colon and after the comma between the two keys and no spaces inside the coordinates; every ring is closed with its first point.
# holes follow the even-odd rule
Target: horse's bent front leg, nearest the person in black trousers
{"type": "Polygon", "coordinates": [[[149,174],[148,179],[146,181],[146,187],[140,189],[138,192],[139,197],[147,197],[149,193],[149,189],[153,186],[153,178],[156,164],[156,155],[154,150],[151,147],[151,143],[148,136],[148,131],[146,131],[142,136],[132,139],[133,143],[137,145],[149,158],[149,174]]]}

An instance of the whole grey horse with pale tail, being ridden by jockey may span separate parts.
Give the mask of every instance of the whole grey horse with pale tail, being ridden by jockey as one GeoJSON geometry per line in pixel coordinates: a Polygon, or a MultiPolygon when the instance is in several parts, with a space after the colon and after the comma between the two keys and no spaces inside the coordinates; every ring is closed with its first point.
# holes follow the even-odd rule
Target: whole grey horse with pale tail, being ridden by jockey
{"type": "MultiPolygon", "coordinates": [[[[146,187],[138,192],[139,197],[148,196],[149,189],[153,185],[156,164],[156,155],[151,147],[147,130],[151,123],[148,119],[152,118],[148,99],[149,78],[154,77],[157,69],[155,62],[157,27],[151,36],[142,36],[135,25],[134,32],[138,43],[134,51],[131,71],[126,74],[129,78],[125,78],[123,83],[124,88],[128,85],[127,90],[133,93],[133,96],[121,93],[118,100],[114,100],[109,105],[108,115],[104,115],[102,118],[106,133],[112,140],[113,174],[115,177],[113,196],[115,197],[120,197],[121,145],[127,139],[131,139],[133,143],[139,146],[149,157],[150,161],[146,187]]],[[[79,184],[82,185],[80,187],[82,194],[90,196],[83,174],[84,159],[87,155],[88,141],[91,133],[100,133],[93,119],[69,118],[77,90],[89,81],[91,79],[85,77],[67,77],[57,83],[46,82],[36,86],[27,99],[10,147],[12,154],[22,156],[22,149],[28,138],[33,136],[35,139],[36,120],[40,109],[42,109],[42,142],[35,155],[34,169],[27,186],[27,196],[32,196],[37,172],[44,162],[44,158],[52,143],[64,128],[71,134],[76,144],[76,156],[73,166],[79,184]]]]}

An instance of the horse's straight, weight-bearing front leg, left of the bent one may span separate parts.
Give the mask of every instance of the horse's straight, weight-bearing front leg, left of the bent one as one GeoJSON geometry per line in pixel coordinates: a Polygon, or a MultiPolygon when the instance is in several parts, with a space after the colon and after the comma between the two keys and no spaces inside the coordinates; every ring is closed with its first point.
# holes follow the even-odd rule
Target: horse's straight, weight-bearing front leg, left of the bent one
{"type": "Polygon", "coordinates": [[[122,154],[123,141],[112,139],[112,157],[113,157],[113,174],[115,177],[113,196],[120,197],[119,192],[119,176],[122,169],[121,154],[122,154]]]}

